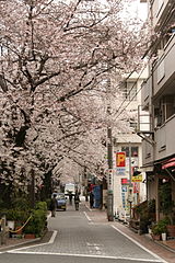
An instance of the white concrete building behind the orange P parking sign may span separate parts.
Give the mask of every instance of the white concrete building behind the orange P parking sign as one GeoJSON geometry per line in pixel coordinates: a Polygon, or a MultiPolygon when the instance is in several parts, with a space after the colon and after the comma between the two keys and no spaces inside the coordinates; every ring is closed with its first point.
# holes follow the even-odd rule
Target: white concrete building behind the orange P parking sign
{"type": "MultiPolygon", "coordinates": [[[[141,84],[148,77],[148,70],[140,76],[132,73],[120,87],[122,92],[121,101],[126,101],[127,111],[135,112],[137,115],[138,106],[141,104],[141,84]]],[[[140,180],[133,182],[133,170],[142,167],[142,145],[141,138],[136,134],[137,121],[128,119],[130,129],[126,133],[117,133],[114,139],[114,215],[125,220],[130,216],[130,208],[147,198],[145,174],[142,173],[140,180]],[[125,169],[118,168],[117,159],[120,152],[125,153],[125,169]]],[[[135,178],[137,179],[137,178],[135,178]]]]}

